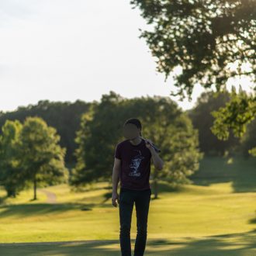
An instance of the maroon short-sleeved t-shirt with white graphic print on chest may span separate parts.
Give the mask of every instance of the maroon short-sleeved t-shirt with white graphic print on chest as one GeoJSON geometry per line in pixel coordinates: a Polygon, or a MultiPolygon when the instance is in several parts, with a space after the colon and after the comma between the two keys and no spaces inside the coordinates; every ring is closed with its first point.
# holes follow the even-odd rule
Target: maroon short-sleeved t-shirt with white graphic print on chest
{"type": "Polygon", "coordinates": [[[123,189],[144,190],[150,187],[151,152],[144,140],[133,145],[123,140],[116,145],[116,158],[121,159],[120,186],[123,189]]]}

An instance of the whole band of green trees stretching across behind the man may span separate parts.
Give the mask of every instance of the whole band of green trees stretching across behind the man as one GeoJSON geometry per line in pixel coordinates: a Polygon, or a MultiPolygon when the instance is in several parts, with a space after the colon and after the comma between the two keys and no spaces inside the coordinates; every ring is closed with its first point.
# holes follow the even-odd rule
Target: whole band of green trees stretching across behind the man
{"type": "Polygon", "coordinates": [[[157,197],[159,180],[190,183],[203,155],[253,154],[255,123],[242,139],[219,140],[211,131],[212,112],[229,100],[229,92],[205,92],[193,109],[182,111],[168,97],[126,99],[111,91],[100,102],[40,101],[1,112],[0,185],[8,196],[33,186],[36,199],[38,186],[111,183],[114,150],[124,121],[133,116],[143,124],[143,137],[161,148],[165,168],[152,168],[150,175],[157,197]]]}

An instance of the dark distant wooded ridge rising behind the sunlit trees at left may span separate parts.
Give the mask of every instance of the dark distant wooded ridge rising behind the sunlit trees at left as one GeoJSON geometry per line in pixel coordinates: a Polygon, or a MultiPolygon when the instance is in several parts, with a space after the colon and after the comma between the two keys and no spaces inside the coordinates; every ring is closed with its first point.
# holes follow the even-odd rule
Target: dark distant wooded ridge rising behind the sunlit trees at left
{"type": "Polygon", "coordinates": [[[35,105],[29,104],[28,106],[19,106],[15,111],[0,112],[0,127],[6,120],[24,122],[28,116],[42,118],[48,126],[57,130],[61,136],[60,145],[66,148],[65,161],[67,164],[73,164],[75,161],[73,153],[77,146],[74,142],[75,133],[79,130],[81,115],[87,112],[93,104],[95,103],[81,100],[75,102],[40,100],[35,105]]]}

